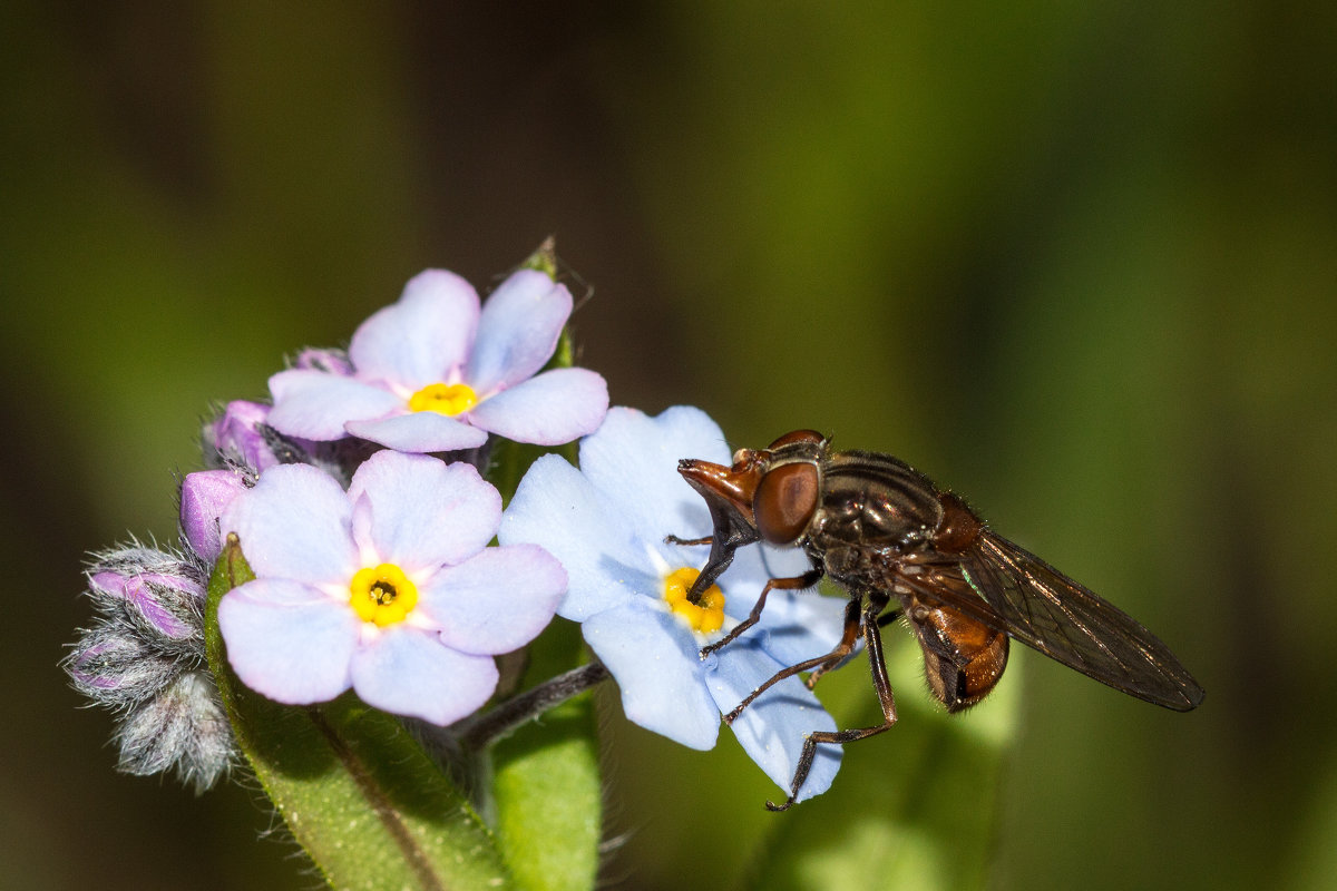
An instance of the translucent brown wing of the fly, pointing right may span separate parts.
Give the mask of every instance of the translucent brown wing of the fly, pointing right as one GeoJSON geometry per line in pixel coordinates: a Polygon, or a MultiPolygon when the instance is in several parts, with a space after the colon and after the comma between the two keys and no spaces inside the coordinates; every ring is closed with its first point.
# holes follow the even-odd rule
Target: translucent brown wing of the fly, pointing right
{"type": "Polygon", "coordinates": [[[959,558],[960,576],[935,569],[898,581],[1138,699],[1178,712],[1202,701],[1202,688],[1155,635],[1005,538],[983,532],[959,558]],[[963,596],[957,578],[977,596],[963,596]]]}

